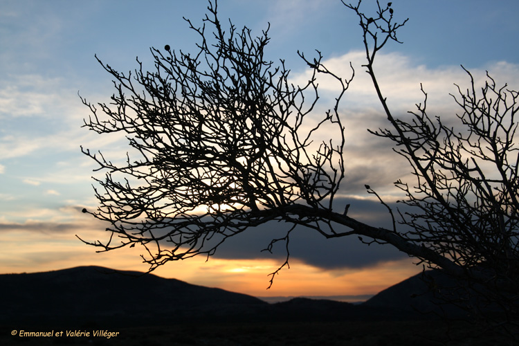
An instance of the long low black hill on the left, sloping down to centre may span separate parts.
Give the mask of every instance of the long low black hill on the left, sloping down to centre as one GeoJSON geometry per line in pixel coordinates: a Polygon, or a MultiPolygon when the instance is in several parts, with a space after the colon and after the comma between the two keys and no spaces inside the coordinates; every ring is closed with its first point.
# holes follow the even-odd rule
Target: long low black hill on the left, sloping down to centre
{"type": "Polygon", "coordinates": [[[266,302],[250,295],[188,284],[152,274],[80,266],[0,275],[0,322],[51,320],[180,320],[247,313],[266,302]]]}

